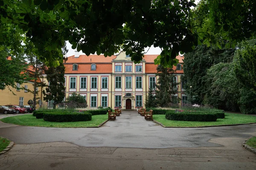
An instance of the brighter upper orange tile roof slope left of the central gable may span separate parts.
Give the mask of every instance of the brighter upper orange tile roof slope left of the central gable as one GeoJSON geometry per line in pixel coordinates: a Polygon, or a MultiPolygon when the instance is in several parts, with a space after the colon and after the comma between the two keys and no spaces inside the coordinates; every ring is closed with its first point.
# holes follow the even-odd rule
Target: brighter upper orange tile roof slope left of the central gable
{"type": "Polygon", "coordinates": [[[80,55],[78,58],[72,55],[67,58],[66,63],[111,63],[115,58],[116,55],[112,55],[111,57],[105,57],[104,55],[80,55]]]}

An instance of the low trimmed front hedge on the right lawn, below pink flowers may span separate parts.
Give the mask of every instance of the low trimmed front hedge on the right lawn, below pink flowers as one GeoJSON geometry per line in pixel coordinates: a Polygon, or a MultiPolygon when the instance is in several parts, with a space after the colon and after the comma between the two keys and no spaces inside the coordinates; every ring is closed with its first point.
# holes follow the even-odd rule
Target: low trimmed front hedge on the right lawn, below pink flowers
{"type": "Polygon", "coordinates": [[[169,110],[165,114],[166,119],[173,121],[216,121],[217,113],[203,113],[203,112],[176,112],[169,110]]]}

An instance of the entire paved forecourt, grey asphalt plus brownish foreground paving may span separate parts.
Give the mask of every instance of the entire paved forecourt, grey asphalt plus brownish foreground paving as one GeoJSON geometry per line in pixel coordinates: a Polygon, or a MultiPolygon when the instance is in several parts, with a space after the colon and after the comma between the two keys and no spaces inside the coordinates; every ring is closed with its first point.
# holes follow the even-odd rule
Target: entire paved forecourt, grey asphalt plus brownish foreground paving
{"type": "Polygon", "coordinates": [[[256,155],[241,143],[256,125],[163,128],[122,111],[100,128],[23,127],[0,122],[0,136],[15,146],[0,156],[0,170],[255,170],[256,155]]]}

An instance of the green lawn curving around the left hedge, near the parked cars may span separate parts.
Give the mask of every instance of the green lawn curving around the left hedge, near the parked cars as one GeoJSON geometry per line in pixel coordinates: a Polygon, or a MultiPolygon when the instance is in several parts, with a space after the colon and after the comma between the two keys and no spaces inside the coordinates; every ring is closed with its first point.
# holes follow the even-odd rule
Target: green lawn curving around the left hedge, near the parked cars
{"type": "Polygon", "coordinates": [[[91,121],[76,121],[76,122],[50,122],[43,119],[37,119],[33,115],[18,115],[7,118],[2,118],[0,121],[10,124],[18,124],[23,126],[37,127],[96,127],[108,120],[106,115],[93,115],[91,121]]]}

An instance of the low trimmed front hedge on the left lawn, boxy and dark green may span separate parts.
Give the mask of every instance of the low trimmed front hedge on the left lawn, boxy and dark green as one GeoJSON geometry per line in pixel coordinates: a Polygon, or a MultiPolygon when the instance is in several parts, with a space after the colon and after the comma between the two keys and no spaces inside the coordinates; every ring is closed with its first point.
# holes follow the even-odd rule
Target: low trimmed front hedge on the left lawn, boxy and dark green
{"type": "Polygon", "coordinates": [[[44,121],[55,122],[71,122],[71,121],[90,121],[92,120],[92,114],[88,112],[78,113],[60,113],[60,112],[45,112],[44,121]]]}

